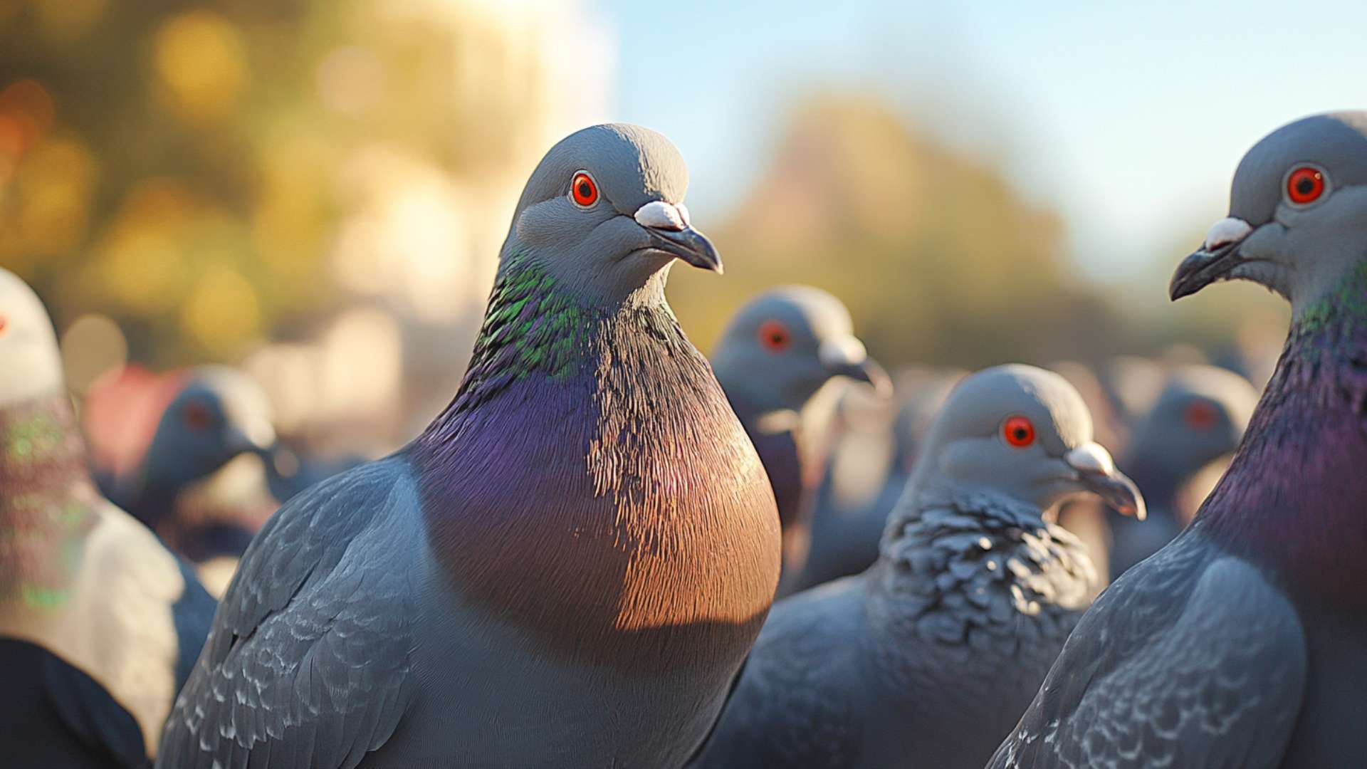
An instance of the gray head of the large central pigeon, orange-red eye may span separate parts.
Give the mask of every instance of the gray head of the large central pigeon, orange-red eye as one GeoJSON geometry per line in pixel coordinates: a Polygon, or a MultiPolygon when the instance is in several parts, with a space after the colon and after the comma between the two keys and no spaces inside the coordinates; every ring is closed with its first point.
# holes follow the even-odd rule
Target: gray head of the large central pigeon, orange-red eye
{"type": "Polygon", "coordinates": [[[592,126],[551,148],[532,172],[500,270],[532,261],[589,298],[622,300],[673,260],[722,271],[692,227],[688,168],[663,135],[592,126]]]}

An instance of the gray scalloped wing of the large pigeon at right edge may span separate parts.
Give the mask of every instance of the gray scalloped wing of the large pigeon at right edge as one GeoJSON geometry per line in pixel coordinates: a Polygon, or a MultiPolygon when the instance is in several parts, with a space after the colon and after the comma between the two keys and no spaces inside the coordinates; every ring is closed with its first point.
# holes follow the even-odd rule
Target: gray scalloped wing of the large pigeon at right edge
{"type": "Polygon", "coordinates": [[[1188,531],[1087,612],[988,766],[1278,766],[1305,666],[1290,602],[1188,531]]]}

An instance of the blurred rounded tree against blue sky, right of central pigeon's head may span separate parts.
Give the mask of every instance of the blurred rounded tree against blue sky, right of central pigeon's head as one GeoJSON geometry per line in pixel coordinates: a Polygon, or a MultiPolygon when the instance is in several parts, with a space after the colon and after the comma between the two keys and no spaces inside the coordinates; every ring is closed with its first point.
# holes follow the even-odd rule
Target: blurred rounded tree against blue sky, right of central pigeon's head
{"type": "Polygon", "coordinates": [[[874,97],[802,103],[716,241],[727,279],[679,275],[674,294],[704,343],[726,322],[719,308],[790,282],[843,298],[890,364],[1089,357],[1121,331],[1070,275],[1058,213],[874,97]]]}

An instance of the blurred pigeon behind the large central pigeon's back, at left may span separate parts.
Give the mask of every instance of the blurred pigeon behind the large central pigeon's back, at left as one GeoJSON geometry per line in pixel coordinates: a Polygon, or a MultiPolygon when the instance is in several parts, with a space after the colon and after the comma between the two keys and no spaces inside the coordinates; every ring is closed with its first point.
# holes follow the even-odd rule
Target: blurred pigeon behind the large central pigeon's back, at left
{"type": "Polygon", "coordinates": [[[267,452],[272,443],[272,409],[261,386],[235,368],[204,365],[185,376],[138,465],[101,480],[109,499],[186,558],[197,564],[235,558],[252,542],[260,519],[234,510],[190,514],[185,498],[228,461],[267,452]]]}

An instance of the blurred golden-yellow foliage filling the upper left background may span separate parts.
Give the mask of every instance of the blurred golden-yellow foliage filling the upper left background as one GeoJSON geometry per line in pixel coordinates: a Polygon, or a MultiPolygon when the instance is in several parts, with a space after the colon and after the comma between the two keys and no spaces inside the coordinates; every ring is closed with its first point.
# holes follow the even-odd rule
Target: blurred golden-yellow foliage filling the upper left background
{"type": "MultiPolygon", "coordinates": [[[[0,0],[0,264],[59,326],[113,316],[153,365],[316,327],[342,300],[339,230],[402,192],[392,168],[459,179],[478,220],[544,151],[551,53],[511,18],[474,0],[0,0]],[[357,182],[376,155],[394,161],[357,182]]],[[[427,220],[450,219],[431,200],[427,220]]]]}

